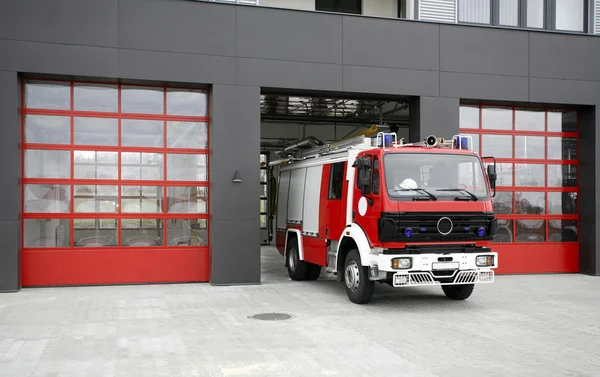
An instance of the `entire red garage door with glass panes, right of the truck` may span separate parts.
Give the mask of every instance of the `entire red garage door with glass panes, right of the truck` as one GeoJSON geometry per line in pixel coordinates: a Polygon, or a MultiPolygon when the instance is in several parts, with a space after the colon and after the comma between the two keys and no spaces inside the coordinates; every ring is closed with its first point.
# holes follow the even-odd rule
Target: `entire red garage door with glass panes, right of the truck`
{"type": "Polygon", "coordinates": [[[578,272],[578,111],[463,105],[460,127],[497,158],[498,271],[578,272]]]}

